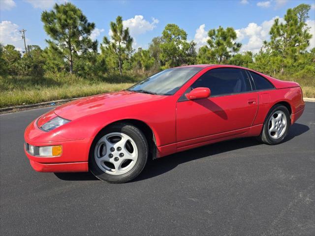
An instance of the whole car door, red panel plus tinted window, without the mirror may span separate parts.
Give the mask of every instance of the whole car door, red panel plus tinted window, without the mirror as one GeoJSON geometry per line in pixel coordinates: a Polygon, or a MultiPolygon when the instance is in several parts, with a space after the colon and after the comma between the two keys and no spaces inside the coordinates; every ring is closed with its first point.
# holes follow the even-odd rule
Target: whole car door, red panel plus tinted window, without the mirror
{"type": "Polygon", "coordinates": [[[258,108],[258,95],[252,90],[249,75],[243,69],[215,68],[201,75],[177,102],[178,147],[211,140],[216,134],[225,137],[246,132],[258,108]],[[209,88],[210,97],[188,100],[185,93],[199,87],[209,88]]]}

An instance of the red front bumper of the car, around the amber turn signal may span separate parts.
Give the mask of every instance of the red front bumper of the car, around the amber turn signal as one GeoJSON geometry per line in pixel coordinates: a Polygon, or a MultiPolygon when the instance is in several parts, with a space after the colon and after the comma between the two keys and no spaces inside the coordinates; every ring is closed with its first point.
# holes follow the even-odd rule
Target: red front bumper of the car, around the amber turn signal
{"type": "Polygon", "coordinates": [[[35,147],[62,145],[63,152],[60,156],[40,157],[31,155],[26,150],[32,168],[38,172],[88,172],[89,150],[92,138],[65,139],[53,131],[40,130],[34,120],[25,130],[25,142],[35,147]]]}

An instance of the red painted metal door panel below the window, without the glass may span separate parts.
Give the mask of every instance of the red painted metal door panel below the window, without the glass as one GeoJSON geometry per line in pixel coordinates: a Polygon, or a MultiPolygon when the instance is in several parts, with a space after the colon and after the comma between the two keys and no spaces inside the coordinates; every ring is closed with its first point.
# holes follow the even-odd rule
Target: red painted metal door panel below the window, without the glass
{"type": "Polygon", "coordinates": [[[257,113],[258,105],[249,105],[257,92],[177,103],[176,134],[180,147],[193,144],[198,137],[207,137],[248,128],[257,113]],[[246,115],[245,115],[246,114],[246,115]]]}

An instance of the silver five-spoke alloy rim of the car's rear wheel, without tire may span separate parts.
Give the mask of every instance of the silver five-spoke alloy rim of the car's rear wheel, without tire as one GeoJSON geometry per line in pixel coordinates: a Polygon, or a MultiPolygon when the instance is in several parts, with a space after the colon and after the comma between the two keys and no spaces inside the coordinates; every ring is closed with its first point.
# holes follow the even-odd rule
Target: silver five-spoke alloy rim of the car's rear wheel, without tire
{"type": "Polygon", "coordinates": [[[286,125],[286,116],[284,112],[274,112],[268,122],[269,137],[272,139],[281,138],[284,135],[286,125]]]}

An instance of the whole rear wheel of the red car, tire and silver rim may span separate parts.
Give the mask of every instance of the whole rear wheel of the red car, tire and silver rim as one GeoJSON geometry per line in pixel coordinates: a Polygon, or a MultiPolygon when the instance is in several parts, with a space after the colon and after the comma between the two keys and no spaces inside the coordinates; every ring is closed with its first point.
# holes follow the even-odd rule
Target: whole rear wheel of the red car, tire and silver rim
{"type": "Polygon", "coordinates": [[[287,108],[280,104],[275,105],[268,113],[258,140],[269,145],[279,144],[288,134],[290,124],[287,108]]]}

